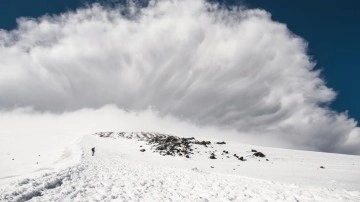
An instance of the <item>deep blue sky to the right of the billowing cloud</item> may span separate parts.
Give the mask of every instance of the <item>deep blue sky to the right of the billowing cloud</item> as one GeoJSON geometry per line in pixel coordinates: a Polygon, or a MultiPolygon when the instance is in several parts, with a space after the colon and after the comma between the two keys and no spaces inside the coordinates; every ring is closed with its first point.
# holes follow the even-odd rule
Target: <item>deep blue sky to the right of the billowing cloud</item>
{"type": "Polygon", "coordinates": [[[245,5],[269,11],[274,20],[305,38],[328,86],[338,93],[331,107],[348,110],[360,120],[360,2],[324,2],[247,0],[245,5]]]}

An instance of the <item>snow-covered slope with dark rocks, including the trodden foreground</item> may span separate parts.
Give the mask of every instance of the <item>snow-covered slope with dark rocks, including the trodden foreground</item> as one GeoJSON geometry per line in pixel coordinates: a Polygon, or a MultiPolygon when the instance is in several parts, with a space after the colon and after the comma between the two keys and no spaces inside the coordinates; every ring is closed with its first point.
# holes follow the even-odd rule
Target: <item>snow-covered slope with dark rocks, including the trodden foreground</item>
{"type": "Polygon", "coordinates": [[[71,160],[69,167],[23,175],[13,182],[0,180],[0,200],[360,201],[359,156],[169,137],[84,136],[79,149],[71,147],[72,154],[66,155],[67,150],[61,158],[71,160]],[[256,157],[251,150],[265,157],[256,157]]]}

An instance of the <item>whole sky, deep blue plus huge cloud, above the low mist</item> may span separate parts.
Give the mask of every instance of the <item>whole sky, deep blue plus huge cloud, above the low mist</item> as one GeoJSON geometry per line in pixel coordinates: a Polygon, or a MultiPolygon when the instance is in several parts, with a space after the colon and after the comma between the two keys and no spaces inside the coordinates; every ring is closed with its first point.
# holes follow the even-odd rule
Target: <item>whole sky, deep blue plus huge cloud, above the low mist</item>
{"type": "Polygon", "coordinates": [[[130,0],[95,1],[0,3],[0,28],[15,30],[0,31],[0,118],[148,110],[252,144],[359,154],[358,3],[162,0],[134,20],[111,8],[130,0]]]}

